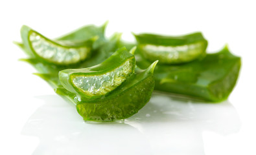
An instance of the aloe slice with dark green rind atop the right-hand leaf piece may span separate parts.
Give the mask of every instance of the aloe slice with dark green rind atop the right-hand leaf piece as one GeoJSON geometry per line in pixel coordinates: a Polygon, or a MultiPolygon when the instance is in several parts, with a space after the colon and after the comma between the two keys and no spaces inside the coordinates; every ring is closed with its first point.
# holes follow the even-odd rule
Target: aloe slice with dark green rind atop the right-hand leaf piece
{"type": "Polygon", "coordinates": [[[200,32],[186,36],[135,35],[138,48],[149,61],[164,64],[187,63],[205,56],[207,41],[200,32]]]}

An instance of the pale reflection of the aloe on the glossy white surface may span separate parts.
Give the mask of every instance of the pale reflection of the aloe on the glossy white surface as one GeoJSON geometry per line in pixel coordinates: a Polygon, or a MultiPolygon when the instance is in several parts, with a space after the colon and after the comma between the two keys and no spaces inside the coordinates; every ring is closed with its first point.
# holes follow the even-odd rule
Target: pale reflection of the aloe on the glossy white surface
{"type": "Polygon", "coordinates": [[[202,103],[154,93],[134,116],[113,123],[86,123],[59,96],[40,96],[45,104],[23,127],[36,136],[33,154],[204,154],[202,132],[238,132],[240,119],[229,103],[202,103]]]}

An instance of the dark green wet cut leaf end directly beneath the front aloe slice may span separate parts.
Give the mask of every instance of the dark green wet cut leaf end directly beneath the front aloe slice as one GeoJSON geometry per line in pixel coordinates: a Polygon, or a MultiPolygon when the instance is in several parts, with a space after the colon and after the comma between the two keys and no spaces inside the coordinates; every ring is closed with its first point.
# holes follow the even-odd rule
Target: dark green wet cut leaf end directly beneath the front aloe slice
{"type": "Polygon", "coordinates": [[[76,105],[78,113],[86,121],[113,121],[134,115],[145,106],[154,90],[153,72],[156,63],[146,70],[135,72],[106,98],[80,101],[76,105]]]}

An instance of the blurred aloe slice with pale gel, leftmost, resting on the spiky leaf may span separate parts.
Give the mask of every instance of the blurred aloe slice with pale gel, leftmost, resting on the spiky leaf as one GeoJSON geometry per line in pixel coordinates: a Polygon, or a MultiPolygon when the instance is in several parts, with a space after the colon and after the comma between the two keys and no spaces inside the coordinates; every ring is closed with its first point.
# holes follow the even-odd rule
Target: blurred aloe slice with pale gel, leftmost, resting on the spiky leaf
{"type": "Polygon", "coordinates": [[[98,37],[87,41],[52,41],[24,25],[21,38],[30,56],[54,65],[73,65],[90,56],[93,42],[98,37]]]}

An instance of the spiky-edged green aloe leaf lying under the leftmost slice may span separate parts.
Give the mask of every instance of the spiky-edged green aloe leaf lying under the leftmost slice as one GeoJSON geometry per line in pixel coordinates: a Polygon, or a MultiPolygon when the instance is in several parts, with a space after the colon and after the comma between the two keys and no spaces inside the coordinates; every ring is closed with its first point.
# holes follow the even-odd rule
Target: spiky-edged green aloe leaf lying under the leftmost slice
{"type": "Polygon", "coordinates": [[[76,96],[75,94],[65,90],[65,88],[61,85],[60,80],[58,78],[58,72],[60,70],[64,70],[67,68],[85,68],[91,67],[93,65],[97,65],[98,63],[102,63],[105,59],[111,56],[113,52],[117,49],[117,42],[120,39],[121,34],[114,34],[110,39],[106,39],[104,37],[104,29],[106,28],[106,24],[100,27],[97,26],[84,26],[74,32],[71,32],[63,37],[59,37],[60,41],[78,41],[78,40],[87,40],[91,37],[99,36],[98,40],[101,40],[98,47],[93,50],[93,54],[91,58],[87,61],[82,61],[81,63],[75,65],[67,65],[60,66],[54,65],[51,63],[47,63],[45,61],[41,61],[38,57],[34,57],[30,54],[29,49],[27,49],[23,43],[14,42],[18,47],[24,50],[25,53],[28,54],[29,58],[20,59],[21,61],[25,61],[30,63],[33,67],[38,70],[37,76],[43,78],[52,88],[56,91],[57,94],[62,96],[67,101],[71,101],[71,103],[76,104],[75,99],[71,99],[71,96],[76,96]],[[83,37],[84,36],[84,37],[83,37]],[[101,45],[100,45],[101,44],[101,45]]]}

